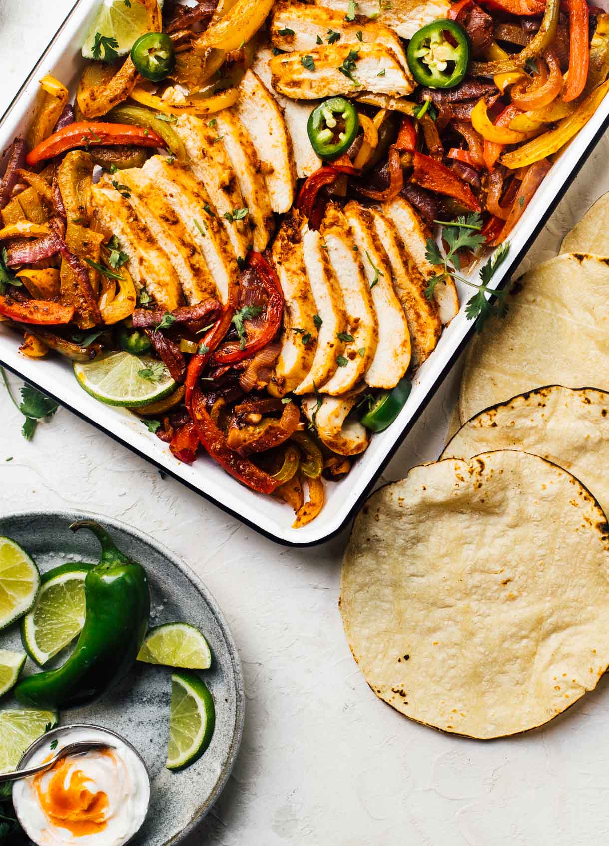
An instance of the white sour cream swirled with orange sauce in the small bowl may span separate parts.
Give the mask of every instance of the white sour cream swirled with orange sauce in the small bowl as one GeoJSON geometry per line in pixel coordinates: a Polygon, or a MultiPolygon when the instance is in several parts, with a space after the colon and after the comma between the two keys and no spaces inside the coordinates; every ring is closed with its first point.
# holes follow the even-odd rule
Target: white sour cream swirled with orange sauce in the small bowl
{"type": "Polygon", "coordinates": [[[25,832],[40,846],[123,846],[144,821],[150,779],[140,756],[113,733],[89,727],[44,736],[23,766],[44,763],[76,740],[112,749],[69,755],[52,769],[14,784],[13,803],[25,832]]]}

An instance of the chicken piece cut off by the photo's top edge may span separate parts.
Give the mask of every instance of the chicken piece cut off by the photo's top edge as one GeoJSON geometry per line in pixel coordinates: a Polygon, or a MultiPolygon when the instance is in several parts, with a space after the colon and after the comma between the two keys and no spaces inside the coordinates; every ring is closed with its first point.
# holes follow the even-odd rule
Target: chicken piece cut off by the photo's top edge
{"type": "MultiPolygon", "coordinates": [[[[315,3],[343,14],[348,13],[349,0],[315,0],[315,3]]],[[[355,3],[355,12],[362,20],[374,17],[377,23],[388,26],[407,41],[421,27],[431,24],[434,20],[447,18],[450,8],[449,0],[429,0],[427,3],[420,3],[420,0],[392,0],[391,3],[360,0],[355,3]]]]}

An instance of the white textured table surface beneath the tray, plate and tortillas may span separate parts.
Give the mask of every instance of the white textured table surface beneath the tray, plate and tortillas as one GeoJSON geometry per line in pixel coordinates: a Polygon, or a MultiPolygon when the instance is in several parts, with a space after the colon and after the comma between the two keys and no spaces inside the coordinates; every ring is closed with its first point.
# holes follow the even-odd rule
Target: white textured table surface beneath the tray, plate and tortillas
{"type": "MultiPolygon", "coordinates": [[[[70,6],[0,0],[0,113],[70,6]]],[[[605,138],[527,265],[553,255],[562,234],[609,190],[608,152],[605,138]]],[[[456,376],[387,479],[437,457],[456,376]]],[[[177,482],[162,481],[64,409],[27,443],[3,387],[0,420],[0,515],[82,508],[123,519],[181,555],[226,613],[244,665],[244,741],[228,787],[191,846],[606,843],[605,680],[546,728],[516,739],[479,743],[409,722],[371,692],[345,642],[337,608],[344,537],[314,550],[277,547],[177,482]]]]}

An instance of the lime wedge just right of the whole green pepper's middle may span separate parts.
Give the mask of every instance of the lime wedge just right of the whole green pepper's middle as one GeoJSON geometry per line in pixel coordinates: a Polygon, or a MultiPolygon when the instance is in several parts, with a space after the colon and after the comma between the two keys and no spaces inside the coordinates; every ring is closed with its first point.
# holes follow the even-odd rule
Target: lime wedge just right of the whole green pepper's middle
{"type": "Polygon", "coordinates": [[[206,639],[195,626],[166,623],[148,633],[138,661],[165,664],[166,667],[206,670],[211,664],[211,652],[206,639]]]}

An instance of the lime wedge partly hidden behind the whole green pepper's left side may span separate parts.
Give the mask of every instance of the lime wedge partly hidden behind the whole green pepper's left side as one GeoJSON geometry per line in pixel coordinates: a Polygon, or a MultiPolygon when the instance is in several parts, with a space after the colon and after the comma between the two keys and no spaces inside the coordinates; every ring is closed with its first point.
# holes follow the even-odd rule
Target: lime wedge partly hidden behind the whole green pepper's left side
{"type": "Polygon", "coordinates": [[[85,579],[93,564],[62,564],[42,575],[41,589],[21,620],[21,640],[41,666],[71,643],[85,625],[85,579]]]}

